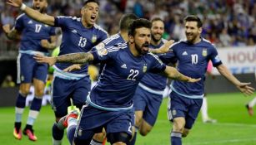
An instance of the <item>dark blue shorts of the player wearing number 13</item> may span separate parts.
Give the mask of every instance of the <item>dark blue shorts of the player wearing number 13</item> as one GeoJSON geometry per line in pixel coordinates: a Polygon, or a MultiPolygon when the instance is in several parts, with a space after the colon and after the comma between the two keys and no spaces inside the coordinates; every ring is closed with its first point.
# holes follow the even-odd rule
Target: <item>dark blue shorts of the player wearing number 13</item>
{"type": "Polygon", "coordinates": [[[53,78],[52,106],[56,117],[63,117],[68,114],[70,99],[77,107],[82,107],[86,102],[88,92],[91,90],[89,77],[80,80],[64,80],[53,78]]]}

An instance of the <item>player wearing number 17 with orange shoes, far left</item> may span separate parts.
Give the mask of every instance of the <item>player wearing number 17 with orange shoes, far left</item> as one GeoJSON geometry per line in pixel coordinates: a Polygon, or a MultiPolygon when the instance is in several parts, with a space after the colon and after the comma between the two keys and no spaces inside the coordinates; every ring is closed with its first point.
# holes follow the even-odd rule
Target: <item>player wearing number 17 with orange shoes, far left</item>
{"type": "MultiPolygon", "coordinates": [[[[48,6],[47,0],[33,0],[33,11],[45,15],[48,6]]],[[[18,55],[18,84],[19,93],[15,105],[14,138],[22,139],[22,115],[26,104],[30,86],[34,85],[35,92],[30,106],[28,121],[23,129],[23,134],[28,135],[32,141],[38,138],[33,132],[33,124],[38,118],[42,105],[45,82],[47,80],[48,65],[38,64],[33,59],[33,55],[48,55],[48,49],[55,47],[55,28],[36,22],[28,15],[21,14],[17,17],[15,26],[10,29],[10,25],[3,26],[3,31],[9,39],[21,38],[21,46],[18,55]],[[21,37],[20,37],[21,36],[21,37]],[[50,42],[49,42],[50,41],[50,42]]]]}

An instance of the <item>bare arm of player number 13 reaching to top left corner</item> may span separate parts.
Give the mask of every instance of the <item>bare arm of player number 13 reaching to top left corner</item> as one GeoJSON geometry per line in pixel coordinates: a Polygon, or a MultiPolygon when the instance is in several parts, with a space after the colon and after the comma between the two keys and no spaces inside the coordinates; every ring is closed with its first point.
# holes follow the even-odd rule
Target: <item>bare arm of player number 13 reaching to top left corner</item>
{"type": "Polygon", "coordinates": [[[38,22],[43,22],[50,26],[54,25],[54,17],[40,13],[33,8],[27,7],[22,0],[8,0],[7,3],[13,7],[20,7],[20,9],[23,10],[23,12],[25,12],[28,17],[31,17],[38,22]]]}

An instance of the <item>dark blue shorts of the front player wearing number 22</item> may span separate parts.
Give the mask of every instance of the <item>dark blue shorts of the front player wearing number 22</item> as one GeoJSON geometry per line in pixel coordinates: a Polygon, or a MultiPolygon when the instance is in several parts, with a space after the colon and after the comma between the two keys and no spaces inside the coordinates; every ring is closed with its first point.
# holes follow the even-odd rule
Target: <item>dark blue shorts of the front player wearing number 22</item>
{"type": "Polygon", "coordinates": [[[106,111],[96,109],[92,106],[84,105],[75,138],[90,139],[94,133],[101,133],[103,128],[106,133],[128,133],[132,136],[132,126],[134,125],[134,111],[106,111]]]}

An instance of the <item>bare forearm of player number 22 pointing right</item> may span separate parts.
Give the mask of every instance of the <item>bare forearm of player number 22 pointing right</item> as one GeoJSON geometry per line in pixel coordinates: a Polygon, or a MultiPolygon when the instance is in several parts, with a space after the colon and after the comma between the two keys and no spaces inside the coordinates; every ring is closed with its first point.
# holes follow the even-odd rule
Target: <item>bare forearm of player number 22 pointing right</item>
{"type": "Polygon", "coordinates": [[[198,82],[199,80],[201,80],[201,78],[193,79],[186,75],[183,75],[180,72],[178,72],[177,69],[171,66],[166,66],[166,69],[164,70],[164,75],[166,75],[169,79],[172,79],[172,80],[180,80],[180,81],[185,81],[190,83],[198,82]]]}

